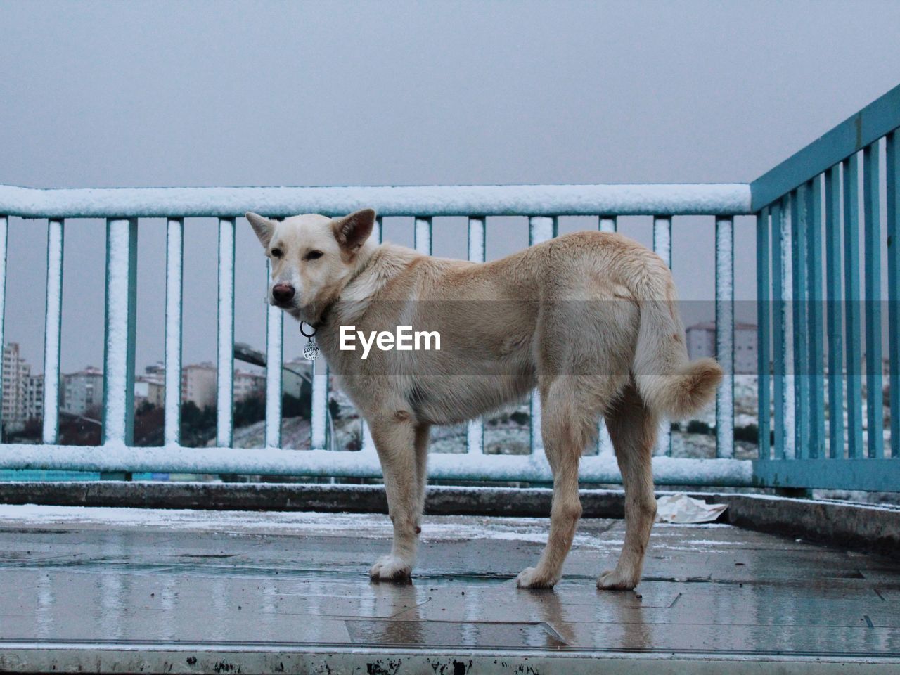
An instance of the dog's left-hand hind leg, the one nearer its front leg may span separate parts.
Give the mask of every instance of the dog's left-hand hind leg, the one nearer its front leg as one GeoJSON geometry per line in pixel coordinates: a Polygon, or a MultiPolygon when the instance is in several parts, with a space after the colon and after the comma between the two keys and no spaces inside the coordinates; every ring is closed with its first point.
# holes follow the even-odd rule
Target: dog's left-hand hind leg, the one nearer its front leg
{"type": "MultiPolygon", "coordinates": [[[[581,518],[578,467],[581,451],[590,438],[590,422],[578,401],[576,377],[556,377],[541,392],[541,435],[547,460],[554,473],[554,498],[550,511],[550,536],[535,567],[519,573],[519,588],[548,589],[560,580],[563,562],[581,518]]],[[[594,422],[596,427],[596,422],[594,422]]]]}

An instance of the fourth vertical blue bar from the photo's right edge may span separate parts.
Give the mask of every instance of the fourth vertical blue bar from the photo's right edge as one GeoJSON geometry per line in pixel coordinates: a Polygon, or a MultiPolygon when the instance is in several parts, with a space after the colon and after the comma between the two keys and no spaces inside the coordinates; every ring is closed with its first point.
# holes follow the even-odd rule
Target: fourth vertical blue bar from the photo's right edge
{"type": "MultiPolygon", "coordinates": [[[[839,165],[840,166],[840,165],[839,165]]],[[[828,456],[843,457],[841,172],[825,171],[825,267],[828,286],[828,456]]]]}

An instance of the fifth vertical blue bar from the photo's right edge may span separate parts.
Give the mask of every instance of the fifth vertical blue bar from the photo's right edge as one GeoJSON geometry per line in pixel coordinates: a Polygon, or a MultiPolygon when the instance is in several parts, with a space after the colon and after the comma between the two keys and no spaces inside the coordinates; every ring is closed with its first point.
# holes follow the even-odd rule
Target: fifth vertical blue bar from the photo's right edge
{"type": "MultiPolygon", "coordinates": [[[[824,323],[822,311],[822,176],[817,175],[807,188],[810,207],[806,222],[806,293],[808,331],[807,373],[809,397],[809,454],[824,457],[825,391],[824,391],[824,323]]],[[[800,332],[800,331],[797,331],[800,332]]]]}

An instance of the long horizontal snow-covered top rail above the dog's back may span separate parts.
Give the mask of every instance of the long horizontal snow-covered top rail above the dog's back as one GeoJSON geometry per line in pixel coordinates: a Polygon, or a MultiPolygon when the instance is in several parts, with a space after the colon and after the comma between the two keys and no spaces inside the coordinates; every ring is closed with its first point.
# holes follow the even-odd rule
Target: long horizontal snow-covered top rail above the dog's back
{"type": "Polygon", "coordinates": [[[410,185],[39,189],[0,185],[0,214],[23,218],[285,217],[373,208],[383,216],[739,215],[748,184],[410,185]]]}

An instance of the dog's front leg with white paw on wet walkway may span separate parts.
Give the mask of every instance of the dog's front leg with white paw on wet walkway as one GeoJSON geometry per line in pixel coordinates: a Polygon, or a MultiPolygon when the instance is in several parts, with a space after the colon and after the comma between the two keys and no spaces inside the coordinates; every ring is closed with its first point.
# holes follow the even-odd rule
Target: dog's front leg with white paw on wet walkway
{"type": "Polygon", "coordinates": [[[388,514],[393,522],[391,553],[369,571],[373,580],[409,579],[419,538],[419,477],[416,471],[416,428],[410,414],[401,410],[390,420],[371,424],[372,438],[382,463],[388,514]]]}

